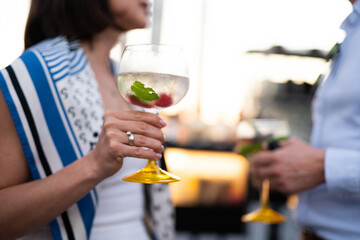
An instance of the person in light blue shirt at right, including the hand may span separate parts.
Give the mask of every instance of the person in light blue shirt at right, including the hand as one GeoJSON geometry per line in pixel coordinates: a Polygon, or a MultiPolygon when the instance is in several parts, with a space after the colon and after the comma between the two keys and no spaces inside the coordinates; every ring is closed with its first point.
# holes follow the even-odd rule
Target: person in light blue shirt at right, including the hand
{"type": "Polygon", "coordinates": [[[331,71],[313,101],[311,143],[281,142],[281,148],[251,157],[251,179],[260,186],[298,193],[295,218],[301,239],[360,239],[360,1],[341,28],[346,32],[331,71]]]}

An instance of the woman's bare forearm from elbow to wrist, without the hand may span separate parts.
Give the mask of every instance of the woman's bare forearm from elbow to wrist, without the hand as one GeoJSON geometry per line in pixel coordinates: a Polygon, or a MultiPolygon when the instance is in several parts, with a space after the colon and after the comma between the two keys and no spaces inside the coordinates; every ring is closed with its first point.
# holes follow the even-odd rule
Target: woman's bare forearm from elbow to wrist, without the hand
{"type": "Polygon", "coordinates": [[[46,179],[1,189],[0,239],[18,237],[49,223],[100,180],[82,158],[46,179]]]}

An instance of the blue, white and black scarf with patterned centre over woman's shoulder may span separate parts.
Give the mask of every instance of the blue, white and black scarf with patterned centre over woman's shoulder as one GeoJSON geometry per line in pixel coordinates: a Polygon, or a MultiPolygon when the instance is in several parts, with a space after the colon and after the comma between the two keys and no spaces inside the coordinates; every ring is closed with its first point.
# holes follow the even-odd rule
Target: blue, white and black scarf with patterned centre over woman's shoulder
{"type": "MultiPolygon", "coordinates": [[[[97,83],[76,44],[44,41],[1,70],[0,87],[34,180],[86,155],[101,130],[97,83]]],[[[96,204],[94,189],[51,222],[53,238],[88,239],[96,204]]]]}

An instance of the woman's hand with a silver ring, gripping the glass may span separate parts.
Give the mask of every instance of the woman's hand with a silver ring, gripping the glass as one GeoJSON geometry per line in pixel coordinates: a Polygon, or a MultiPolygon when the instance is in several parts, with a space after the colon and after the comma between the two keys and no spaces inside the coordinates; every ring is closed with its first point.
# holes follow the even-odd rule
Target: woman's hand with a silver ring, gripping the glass
{"type": "Polygon", "coordinates": [[[161,129],[165,126],[153,113],[106,112],[98,143],[89,154],[93,170],[105,178],[121,169],[125,157],[160,159],[165,142],[161,129]],[[130,145],[127,131],[134,134],[134,145],[130,145]]]}

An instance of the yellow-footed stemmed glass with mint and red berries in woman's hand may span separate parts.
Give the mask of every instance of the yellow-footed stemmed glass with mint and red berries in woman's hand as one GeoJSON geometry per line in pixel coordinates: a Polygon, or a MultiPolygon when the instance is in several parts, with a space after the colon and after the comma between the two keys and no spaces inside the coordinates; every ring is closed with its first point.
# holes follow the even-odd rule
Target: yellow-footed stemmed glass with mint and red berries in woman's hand
{"type": "MultiPolygon", "coordinates": [[[[186,58],[181,48],[170,45],[129,45],[120,60],[118,88],[122,97],[143,111],[159,113],[177,104],[189,88],[186,58]]],[[[124,177],[140,183],[169,183],[180,178],[162,170],[155,160],[124,177]]]]}

